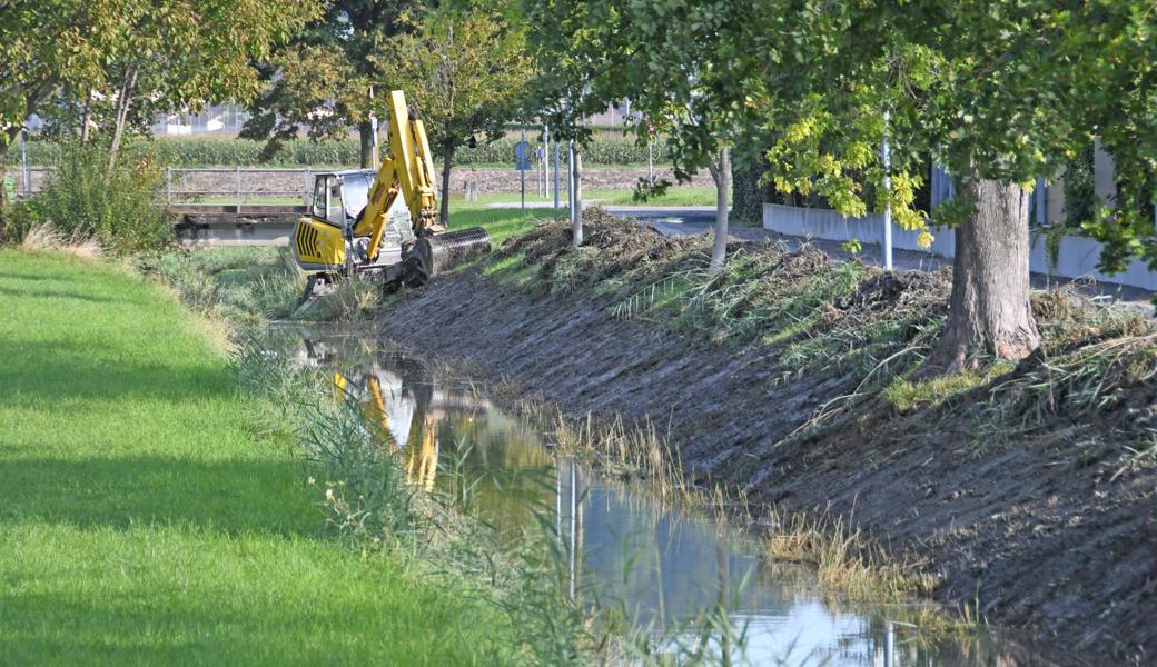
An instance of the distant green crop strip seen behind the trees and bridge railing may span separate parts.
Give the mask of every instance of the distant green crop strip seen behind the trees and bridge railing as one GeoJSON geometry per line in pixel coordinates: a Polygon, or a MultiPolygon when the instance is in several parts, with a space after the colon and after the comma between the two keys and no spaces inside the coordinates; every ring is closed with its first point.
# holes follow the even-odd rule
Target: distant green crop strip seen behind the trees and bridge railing
{"type": "MultiPolygon", "coordinates": [[[[528,141],[538,146],[530,139],[528,141]]],[[[479,143],[474,148],[460,147],[455,155],[455,164],[513,164],[516,143],[516,138],[503,138],[491,143],[479,143]]],[[[244,139],[156,139],[152,142],[152,153],[162,164],[171,166],[356,166],[361,150],[356,138],[325,142],[292,140],[282,144],[272,160],[261,162],[263,147],[263,142],[244,139]]],[[[56,142],[31,141],[28,144],[28,160],[32,164],[56,164],[61,154],[61,146],[56,142]]],[[[647,147],[636,146],[632,138],[600,135],[585,147],[583,158],[584,164],[646,163],[647,147]]],[[[562,160],[566,160],[565,154],[562,160]]],[[[439,162],[435,158],[435,163],[439,162]]],[[[655,162],[666,162],[662,142],[655,144],[655,162]]]]}

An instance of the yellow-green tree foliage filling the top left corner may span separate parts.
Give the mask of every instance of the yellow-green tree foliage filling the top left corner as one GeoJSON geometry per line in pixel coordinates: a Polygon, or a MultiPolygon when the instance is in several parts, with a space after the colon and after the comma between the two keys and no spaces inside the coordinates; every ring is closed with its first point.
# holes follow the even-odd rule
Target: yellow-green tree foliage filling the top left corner
{"type": "Polygon", "coordinates": [[[0,14],[0,65],[14,73],[0,91],[6,134],[53,102],[78,124],[103,121],[116,153],[132,116],[252,97],[260,82],[251,60],[319,8],[318,0],[17,2],[0,14]]]}

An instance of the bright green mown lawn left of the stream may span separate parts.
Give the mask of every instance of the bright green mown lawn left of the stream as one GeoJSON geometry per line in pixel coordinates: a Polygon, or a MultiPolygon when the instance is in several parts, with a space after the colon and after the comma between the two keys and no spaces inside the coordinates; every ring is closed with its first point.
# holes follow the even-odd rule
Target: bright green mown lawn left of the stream
{"type": "Polygon", "coordinates": [[[496,612],[323,534],[169,294],[0,250],[0,664],[492,664],[496,612]]]}

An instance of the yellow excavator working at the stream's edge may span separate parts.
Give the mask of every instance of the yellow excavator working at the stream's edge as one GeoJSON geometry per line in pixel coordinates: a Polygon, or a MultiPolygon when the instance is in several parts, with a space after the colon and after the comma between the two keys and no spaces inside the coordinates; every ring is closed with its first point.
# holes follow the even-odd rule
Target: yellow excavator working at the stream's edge
{"type": "MultiPolygon", "coordinates": [[[[383,288],[418,287],[491,249],[480,227],[447,232],[437,224],[434,162],[426,128],[406,96],[390,92],[389,154],[381,168],[318,173],[310,214],[290,245],[308,274],[303,301],[355,276],[383,288]]],[[[443,197],[447,193],[442,193],[443,197]]]]}

